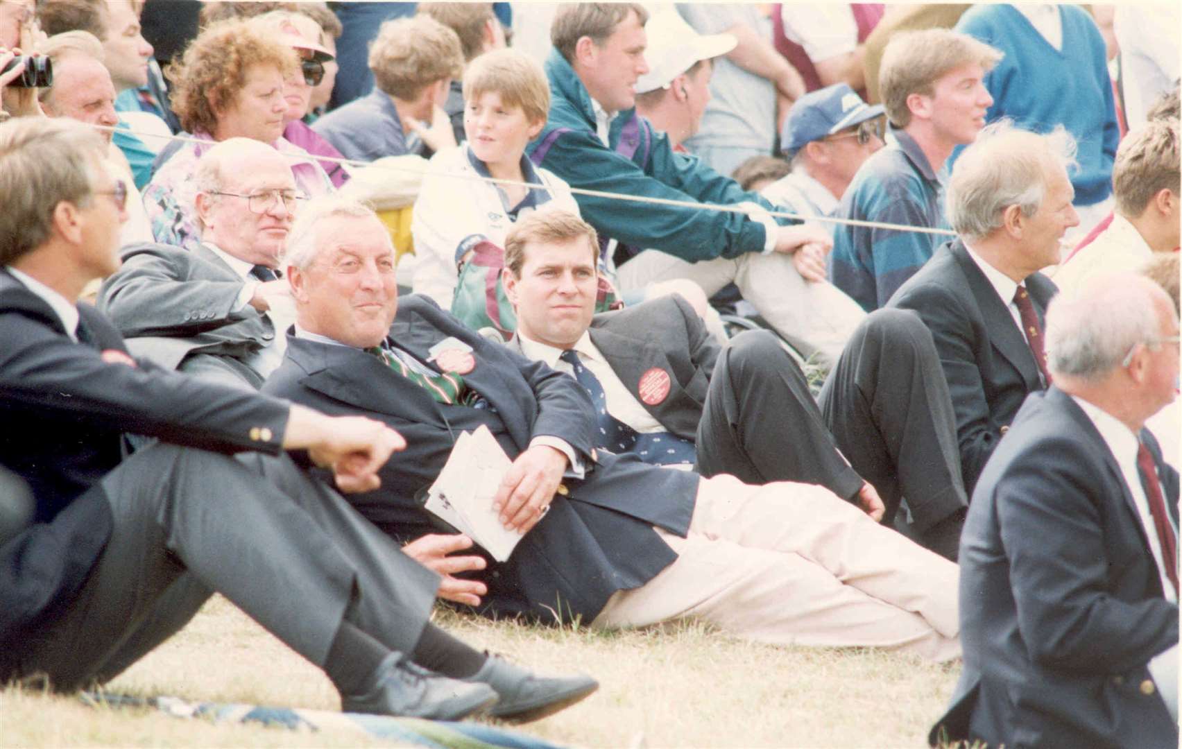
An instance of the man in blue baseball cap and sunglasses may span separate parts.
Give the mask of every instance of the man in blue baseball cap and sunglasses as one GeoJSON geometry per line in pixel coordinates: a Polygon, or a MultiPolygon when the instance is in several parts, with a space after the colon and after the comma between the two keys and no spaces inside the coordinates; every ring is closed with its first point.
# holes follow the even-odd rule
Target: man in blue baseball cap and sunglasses
{"type": "Polygon", "coordinates": [[[801,214],[831,215],[862,162],[883,146],[882,115],[882,104],[870,106],[844,83],[797,99],[780,132],[792,172],[764,188],[764,197],[801,214]]]}

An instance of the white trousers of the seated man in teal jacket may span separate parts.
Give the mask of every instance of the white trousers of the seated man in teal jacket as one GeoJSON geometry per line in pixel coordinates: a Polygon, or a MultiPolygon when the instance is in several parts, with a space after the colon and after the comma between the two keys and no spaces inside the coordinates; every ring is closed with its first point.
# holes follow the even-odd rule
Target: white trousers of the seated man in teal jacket
{"type": "Polygon", "coordinates": [[[829,281],[810,282],[782,253],[746,253],[733,260],[717,258],[686,262],[668,253],[647,249],[618,268],[622,289],[654,281],[689,279],[714,295],[734,281],[759,314],[805,357],[832,366],[845,341],[866,315],[858,302],[829,281]]]}

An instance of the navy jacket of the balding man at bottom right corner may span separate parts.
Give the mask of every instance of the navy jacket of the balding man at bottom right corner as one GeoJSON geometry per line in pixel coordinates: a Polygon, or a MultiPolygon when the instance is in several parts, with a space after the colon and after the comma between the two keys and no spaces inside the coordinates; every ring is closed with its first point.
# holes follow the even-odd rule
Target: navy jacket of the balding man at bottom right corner
{"type": "MultiPolygon", "coordinates": [[[[1145,442],[1176,522],[1177,471],[1145,442]]],[[[1177,745],[1161,698],[1142,690],[1149,659],[1178,641],[1178,607],[1116,458],[1059,389],[1031,395],[981,474],[960,566],[965,667],[933,740],[1177,745]]]]}

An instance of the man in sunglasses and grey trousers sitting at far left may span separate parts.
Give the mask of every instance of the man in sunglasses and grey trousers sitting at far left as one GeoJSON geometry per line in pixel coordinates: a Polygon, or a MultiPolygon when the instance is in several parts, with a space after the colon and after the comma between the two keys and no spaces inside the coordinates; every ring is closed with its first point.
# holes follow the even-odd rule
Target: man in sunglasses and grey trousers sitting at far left
{"type": "Polygon", "coordinates": [[[525,718],[566,704],[561,684],[429,624],[439,578],[281,455],[371,490],[396,432],[136,360],[76,305],[118,265],[128,187],[103,150],[71,121],[0,126],[0,463],[34,500],[0,546],[0,680],[110,679],[216,591],[324,667],[348,710],[459,718],[500,698],[494,714],[525,718]],[[161,442],[124,460],[125,432],[161,442]]]}

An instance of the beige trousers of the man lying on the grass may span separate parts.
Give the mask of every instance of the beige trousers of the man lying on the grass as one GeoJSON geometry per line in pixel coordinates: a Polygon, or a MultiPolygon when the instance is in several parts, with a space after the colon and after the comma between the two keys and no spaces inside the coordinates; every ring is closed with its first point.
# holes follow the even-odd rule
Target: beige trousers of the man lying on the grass
{"type": "Polygon", "coordinates": [[[761,643],[960,656],[955,564],[818,486],[703,478],[678,558],[593,626],[696,617],[761,643]]]}

